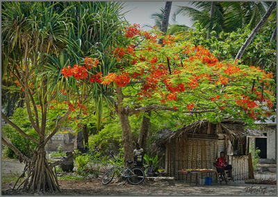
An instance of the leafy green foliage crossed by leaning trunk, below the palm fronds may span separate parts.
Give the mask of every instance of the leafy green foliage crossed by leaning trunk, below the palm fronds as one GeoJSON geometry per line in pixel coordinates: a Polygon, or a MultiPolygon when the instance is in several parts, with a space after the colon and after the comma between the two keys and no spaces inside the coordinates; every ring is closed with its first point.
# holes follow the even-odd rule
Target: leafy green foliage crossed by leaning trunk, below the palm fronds
{"type": "MultiPolygon", "coordinates": [[[[265,26],[256,35],[250,46],[243,53],[241,62],[245,65],[260,66],[263,64],[265,71],[272,71],[276,73],[276,42],[272,41],[270,44],[270,38],[275,30],[276,24],[273,22],[267,22],[265,26]]],[[[190,29],[184,33],[178,33],[177,40],[188,40],[195,45],[202,45],[204,48],[209,49],[216,58],[222,60],[234,60],[240,47],[243,45],[247,37],[252,33],[249,26],[244,28],[238,28],[231,33],[219,34],[215,31],[211,32],[211,39],[206,40],[206,30],[199,24],[196,29],[190,29]]]]}

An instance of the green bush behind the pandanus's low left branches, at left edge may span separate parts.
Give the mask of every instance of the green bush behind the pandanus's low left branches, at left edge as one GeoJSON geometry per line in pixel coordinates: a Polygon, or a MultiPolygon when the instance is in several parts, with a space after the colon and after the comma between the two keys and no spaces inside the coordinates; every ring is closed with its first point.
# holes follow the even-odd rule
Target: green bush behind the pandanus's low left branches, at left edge
{"type": "MultiPolygon", "coordinates": [[[[17,108],[13,114],[12,117],[10,117],[10,120],[13,121],[19,128],[22,128],[26,134],[35,137],[38,139],[38,133],[35,132],[35,130],[31,126],[31,122],[28,119],[28,114],[25,108],[17,108]]],[[[2,127],[2,131],[6,135],[8,139],[10,139],[10,142],[19,150],[22,152],[22,154],[26,155],[27,157],[32,157],[33,150],[35,150],[36,144],[31,141],[31,139],[26,139],[25,137],[22,137],[22,135],[15,130],[10,125],[5,125],[2,127]]],[[[17,155],[10,150],[10,148],[6,148],[6,151],[4,153],[9,158],[16,158],[17,155]]]]}

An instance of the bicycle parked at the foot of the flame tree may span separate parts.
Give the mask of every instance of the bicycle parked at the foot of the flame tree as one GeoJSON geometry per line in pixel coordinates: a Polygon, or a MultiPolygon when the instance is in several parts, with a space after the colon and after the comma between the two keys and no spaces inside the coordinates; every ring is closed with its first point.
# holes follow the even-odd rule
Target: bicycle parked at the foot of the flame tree
{"type": "MultiPolygon", "coordinates": [[[[111,167],[111,169],[108,169],[104,175],[101,178],[101,183],[103,185],[108,185],[108,183],[110,183],[115,175],[115,170],[117,170],[120,173],[120,176],[127,178],[127,180],[132,184],[132,185],[139,185],[140,183],[142,183],[145,180],[145,173],[144,171],[142,171],[141,169],[139,169],[138,167],[133,167],[133,168],[129,168],[129,166],[127,166],[126,168],[122,168],[121,166],[119,166],[118,164],[116,164],[116,160],[114,155],[111,154],[111,156],[114,159],[114,164],[111,167]]],[[[126,161],[128,164],[132,164],[132,161],[126,161]]]]}

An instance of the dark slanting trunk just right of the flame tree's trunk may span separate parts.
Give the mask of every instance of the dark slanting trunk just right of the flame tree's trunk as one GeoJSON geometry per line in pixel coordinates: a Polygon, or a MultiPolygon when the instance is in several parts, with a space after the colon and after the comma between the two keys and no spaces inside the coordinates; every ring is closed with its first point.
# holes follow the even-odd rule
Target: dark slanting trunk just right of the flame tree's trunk
{"type": "Polygon", "coordinates": [[[152,111],[146,112],[148,117],[143,117],[142,119],[142,125],[140,130],[140,135],[138,139],[138,144],[141,148],[143,148],[144,152],[146,152],[146,144],[147,144],[147,135],[149,131],[149,120],[152,114],[152,111]]]}

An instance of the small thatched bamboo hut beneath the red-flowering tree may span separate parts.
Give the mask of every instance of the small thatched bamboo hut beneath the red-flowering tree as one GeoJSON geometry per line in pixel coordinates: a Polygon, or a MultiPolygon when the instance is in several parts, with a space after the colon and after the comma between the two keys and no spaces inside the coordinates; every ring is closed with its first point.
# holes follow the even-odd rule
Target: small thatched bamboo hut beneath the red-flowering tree
{"type": "MultiPolygon", "coordinates": [[[[181,173],[181,169],[215,169],[213,162],[220,156],[221,151],[227,153],[230,140],[234,154],[228,155],[227,159],[234,168],[234,180],[252,177],[248,138],[261,136],[261,132],[245,126],[241,121],[232,120],[217,124],[195,121],[179,130],[164,131],[156,141],[156,147],[164,152],[167,175],[174,176],[177,180],[188,180],[188,175],[181,173]]],[[[199,178],[206,175],[201,176],[199,178]]],[[[215,182],[215,175],[213,176],[215,182]]]]}

